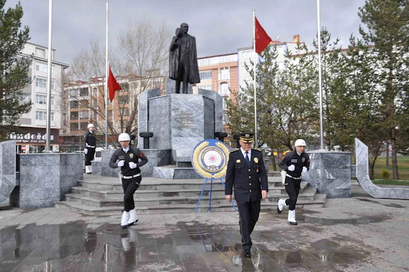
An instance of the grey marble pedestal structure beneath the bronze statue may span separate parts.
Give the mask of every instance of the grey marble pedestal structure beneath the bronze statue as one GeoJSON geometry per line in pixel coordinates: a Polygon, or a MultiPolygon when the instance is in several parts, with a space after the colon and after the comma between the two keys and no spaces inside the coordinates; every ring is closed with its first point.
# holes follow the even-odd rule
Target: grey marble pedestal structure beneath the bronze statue
{"type": "MultiPolygon", "coordinates": [[[[153,133],[150,148],[170,150],[170,162],[174,164],[170,169],[155,169],[151,175],[158,178],[199,177],[193,173],[191,164],[193,148],[222,131],[222,97],[214,91],[201,89],[199,94],[176,94],[171,89],[166,93],[160,96],[158,89],[152,89],[139,95],[139,130],[153,133]]],[[[141,148],[142,138],[139,142],[141,148]]]]}

